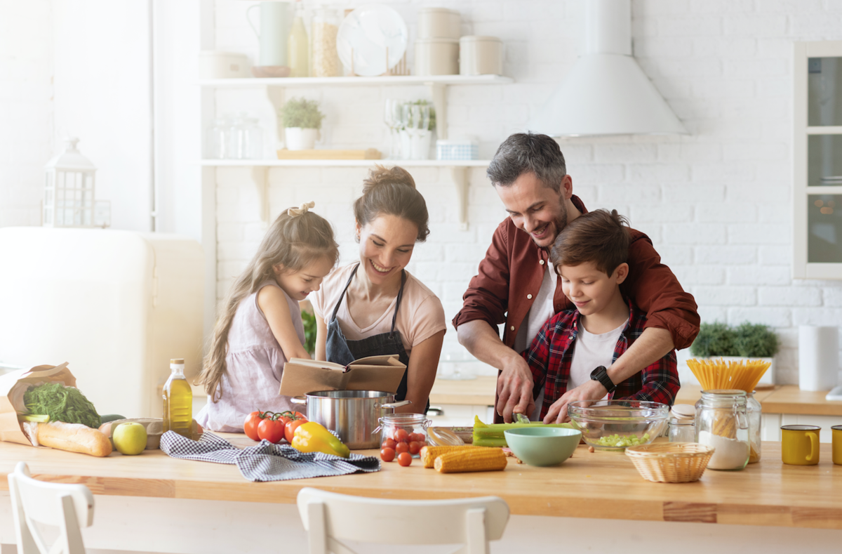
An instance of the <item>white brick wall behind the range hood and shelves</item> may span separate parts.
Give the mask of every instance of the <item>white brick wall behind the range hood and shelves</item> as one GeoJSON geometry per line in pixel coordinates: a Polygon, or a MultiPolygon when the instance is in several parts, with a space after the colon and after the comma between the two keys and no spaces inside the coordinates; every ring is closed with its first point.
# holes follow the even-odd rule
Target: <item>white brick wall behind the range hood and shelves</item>
{"type": "MultiPolygon", "coordinates": [[[[355,2],[351,2],[355,5],[355,2]]],[[[416,9],[431,0],[393,2],[414,36],[416,9]]],[[[450,87],[450,133],[476,135],[493,155],[522,131],[573,66],[583,26],[574,0],[453,2],[464,34],[506,42],[505,72],[516,83],[450,87]],[[560,33],[559,29],[565,29],[560,33]]],[[[217,0],[226,13],[217,47],[253,49],[244,6],[217,0]],[[232,23],[233,22],[233,23],[232,23]]],[[[590,208],[616,208],[652,237],[663,261],[695,295],[703,321],[749,320],[781,334],[778,376],[797,382],[797,325],[839,325],[842,282],[791,280],[791,113],[793,40],[839,40],[842,1],[632,0],[638,61],[684,121],[690,136],[622,136],[561,141],[574,193],[590,208]]],[[[412,49],[409,51],[412,61],[412,49]]],[[[398,91],[312,91],[332,117],[327,136],[341,145],[386,146],[380,106],[390,96],[424,98],[422,87],[398,91]],[[353,94],[353,96],[349,96],[353,94]],[[349,109],[353,104],[353,109],[349,109]],[[353,112],[353,113],[351,113],[353,112]],[[356,131],[360,125],[362,131],[356,131]],[[379,142],[378,142],[379,141],[379,142]]],[[[410,271],[441,298],[452,317],[476,272],[503,206],[481,169],[472,170],[466,232],[458,228],[456,191],[445,169],[412,169],[428,201],[431,233],[410,271]]],[[[273,169],[270,211],[316,200],[356,257],[349,202],[360,194],[360,169],[273,169]]],[[[219,172],[220,294],[226,275],[245,264],[260,234],[248,171],[219,172]],[[238,227],[242,227],[239,228],[238,227]],[[245,237],[246,228],[253,236],[245,237]]],[[[445,353],[461,352],[452,328],[445,353]]],[[[683,356],[686,357],[686,354],[683,356]]]]}

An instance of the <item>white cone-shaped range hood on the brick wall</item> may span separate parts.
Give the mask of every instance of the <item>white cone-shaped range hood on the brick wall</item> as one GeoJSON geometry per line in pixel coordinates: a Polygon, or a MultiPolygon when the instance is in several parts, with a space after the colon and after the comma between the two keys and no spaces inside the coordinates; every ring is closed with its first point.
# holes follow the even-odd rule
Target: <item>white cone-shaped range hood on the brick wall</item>
{"type": "Polygon", "coordinates": [[[529,125],[550,136],[687,134],[632,57],[631,0],[585,0],[585,49],[529,125]]]}

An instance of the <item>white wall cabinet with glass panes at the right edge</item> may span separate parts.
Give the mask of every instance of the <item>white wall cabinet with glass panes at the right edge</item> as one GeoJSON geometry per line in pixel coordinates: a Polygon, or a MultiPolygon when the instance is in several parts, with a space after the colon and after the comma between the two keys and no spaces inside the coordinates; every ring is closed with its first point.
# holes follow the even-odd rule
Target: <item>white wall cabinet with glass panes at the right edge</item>
{"type": "Polygon", "coordinates": [[[842,41],[796,42],[792,277],[842,279],[842,41]]]}

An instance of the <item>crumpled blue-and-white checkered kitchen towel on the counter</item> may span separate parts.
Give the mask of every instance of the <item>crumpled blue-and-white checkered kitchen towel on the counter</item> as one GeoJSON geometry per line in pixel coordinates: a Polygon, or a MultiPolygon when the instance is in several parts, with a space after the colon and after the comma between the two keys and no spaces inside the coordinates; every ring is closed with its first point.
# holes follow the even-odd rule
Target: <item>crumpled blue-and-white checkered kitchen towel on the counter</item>
{"type": "Polygon", "coordinates": [[[340,458],[322,452],[299,452],[290,445],[273,445],[268,440],[239,449],[207,431],[199,440],[167,431],[161,436],[161,450],[173,458],[237,464],[242,477],[249,481],[286,481],[380,471],[380,460],[374,456],[352,453],[349,458],[340,458]]]}

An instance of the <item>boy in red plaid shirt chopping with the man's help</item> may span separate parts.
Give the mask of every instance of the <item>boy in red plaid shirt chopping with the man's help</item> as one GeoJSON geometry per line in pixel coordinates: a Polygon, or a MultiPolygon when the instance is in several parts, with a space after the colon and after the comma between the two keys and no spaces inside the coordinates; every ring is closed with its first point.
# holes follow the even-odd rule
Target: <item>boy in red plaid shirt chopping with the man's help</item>
{"type": "Polygon", "coordinates": [[[614,399],[672,405],[679,391],[674,350],[621,383],[611,382],[605,373],[646,323],[645,312],[620,290],[629,272],[627,225],[616,210],[594,210],[568,223],[552,245],[550,260],[576,309],[547,321],[522,354],[535,391],[546,382],[540,416],[544,423],[566,419],[563,394],[589,380],[600,381],[608,390],[605,397],[614,399]]]}

